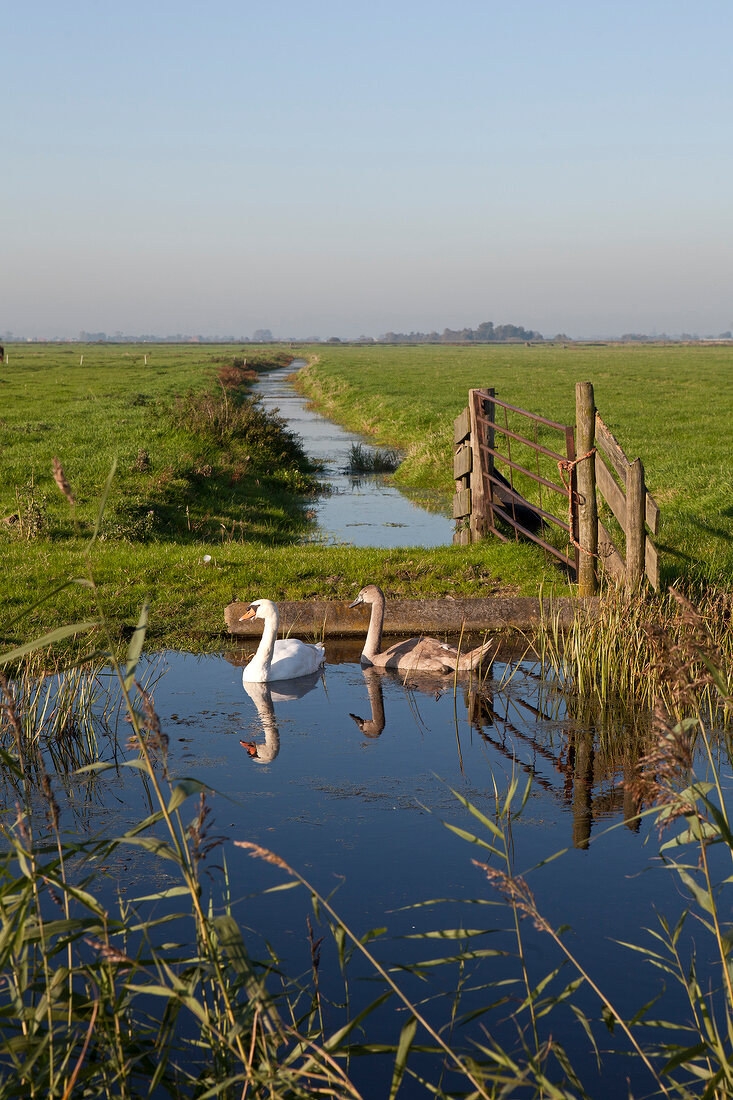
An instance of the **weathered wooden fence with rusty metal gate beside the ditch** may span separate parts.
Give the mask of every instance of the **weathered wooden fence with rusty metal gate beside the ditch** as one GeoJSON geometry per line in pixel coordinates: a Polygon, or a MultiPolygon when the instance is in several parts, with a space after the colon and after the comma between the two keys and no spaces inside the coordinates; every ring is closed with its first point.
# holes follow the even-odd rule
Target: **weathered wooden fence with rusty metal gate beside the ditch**
{"type": "Polygon", "coordinates": [[[652,535],[658,532],[659,508],[646,491],[641,460],[632,462],[626,458],[598,415],[591,383],[576,386],[575,428],[508,405],[493,389],[471,389],[468,407],[456,418],[453,427],[453,518],[458,521],[455,542],[467,544],[488,534],[507,540],[508,528],[515,539],[519,536],[532,539],[572,570],[580,595],[598,591],[602,570],[628,590],[637,587],[645,575],[653,587],[659,587],[658,554],[646,531],[648,526],[652,535]],[[497,419],[497,409],[503,413],[503,424],[497,419]],[[510,428],[510,411],[514,421],[517,418],[523,418],[521,422],[528,421],[533,438],[524,433],[527,429],[510,428]],[[565,453],[546,446],[548,435],[553,433],[562,436],[565,453]],[[535,470],[515,460],[512,443],[515,450],[519,447],[522,453],[528,450],[535,457],[535,470]],[[499,465],[506,469],[508,477],[499,465]],[[555,476],[548,473],[548,465],[549,470],[557,470],[555,476]],[[524,494],[526,485],[536,486],[538,502],[518,492],[515,474],[522,481],[524,494]],[[560,494],[567,502],[561,515],[550,510],[543,490],[545,496],[560,494]],[[614,543],[609,528],[599,518],[597,494],[619,522],[624,537],[622,547],[614,543]],[[550,526],[565,532],[565,549],[543,537],[550,526]]]}

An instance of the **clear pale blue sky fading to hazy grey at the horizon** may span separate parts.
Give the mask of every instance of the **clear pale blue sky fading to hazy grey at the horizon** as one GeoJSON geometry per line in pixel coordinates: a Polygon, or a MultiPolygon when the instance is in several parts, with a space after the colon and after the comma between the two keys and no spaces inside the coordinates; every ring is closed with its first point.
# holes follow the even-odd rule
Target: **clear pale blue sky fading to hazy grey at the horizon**
{"type": "Polygon", "coordinates": [[[0,4],[0,333],[733,328],[731,0],[0,4]]]}

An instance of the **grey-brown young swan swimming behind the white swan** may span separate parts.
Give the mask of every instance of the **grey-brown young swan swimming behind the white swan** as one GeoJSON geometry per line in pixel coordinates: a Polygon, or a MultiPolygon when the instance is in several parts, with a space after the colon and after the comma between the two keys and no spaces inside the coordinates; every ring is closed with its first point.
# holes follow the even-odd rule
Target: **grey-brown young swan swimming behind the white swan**
{"type": "Polygon", "coordinates": [[[466,653],[459,652],[455,646],[448,646],[437,638],[409,638],[398,641],[380,652],[382,645],[382,627],[384,625],[384,593],[376,584],[368,584],[362,588],[350,607],[359,604],[371,604],[372,614],[369,620],[369,631],[361,652],[362,664],[373,664],[375,668],[398,669],[401,672],[468,672],[479,669],[493,641],[486,641],[477,649],[466,653]]]}

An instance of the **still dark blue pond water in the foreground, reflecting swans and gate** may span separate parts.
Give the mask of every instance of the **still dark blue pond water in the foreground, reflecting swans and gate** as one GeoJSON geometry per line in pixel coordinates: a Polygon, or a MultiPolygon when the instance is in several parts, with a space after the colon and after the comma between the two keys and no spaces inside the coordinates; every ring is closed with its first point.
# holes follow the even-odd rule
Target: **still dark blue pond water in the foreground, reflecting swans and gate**
{"type": "MultiPolygon", "coordinates": [[[[216,792],[215,832],[225,840],[210,862],[215,867],[226,858],[234,913],[253,954],[264,954],[266,941],[285,960],[286,972],[307,974],[311,911],[305,892],[263,894],[284,880],[283,872],[248,858],[233,845],[237,839],[273,849],[321,892],[336,891],[338,911],[359,935],[386,927],[386,944],[378,954],[387,961],[452,954],[455,944],[435,948],[398,938],[435,928],[484,928],[475,946],[514,949],[506,931],[510,914],[486,904],[497,895],[472,862],[488,859],[501,868],[501,861],[446,823],[491,840],[453,792],[493,818],[494,790],[503,798],[516,774],[522,790],[528,778],[532,788],[511,829],[514,869],[524,873],[567,849],[529,876],[541,912],[556,926],[572,926],[573,950],[622,1011],[631,1014],[659,991],[658,974],[616,942],[644,941],[643,926],[656,923],[656,910],[676,917],[681,903],[675,882],[654,867],[657,846],[654,837],[646,843],[647,828],[624,824],[631,806],[624,801],[621,766],[599,750],[593,730],[580,727],[548,694],[532,663],[496,661],[480,694],[468,683],[455,692],[450,681],[435,679],[407,688],[397,676],[362,670],[358,649],[327,644],[322,674],[245,690],[241,666],[252,648],[207,657],[164,654],[155,708],[171,739],[172,773],[195,777],[216,792]],[[240,740],[254,743],[256,755],[250,756],[240,740]],[[445,901],[414,908],[436,899],[445,901]]],[[[140,780],[130,772],[91,780],[74,796],[86,818],[79,827],[119,828],[150,812],[140,780]]],[[[113,879],[124,877],[128,891],[144,893],[150,864],[132,853],[109,870],[113,879]]],[[[165,867],[160,876],[157,887],[174,884],[165,867]]],[[[529,970],[538,980],[560,960],[529,921],[524,935],[529,970]]],[[[495,1000],[486,983],[515,979],[517,972],[515,963],[501,957],[477,964],[461,1011],[495,1000]]],[[[571,977],[568,972],[565,980],[571,977]]],[[[437,996],[428,1001],[429,1011],[445,1022],[440,996],[457,980],[455,966],[439,967],[412,991],[437,996]]],[[[335,999],[342,997],[328,933],[321,982],[335,999]]],[[[405,982],[409,988],[408,977],[405,982]]],[[[376,993],[372,985],[357,982],[351,996],[353,1009],[376,993]]],[[[598,1004],[586,1008],[598,1016],[598,1004]]],[[[488,1021],[497,1038],[513,1044],[508,1013],[504,1008],[488,1021]]],[[[394,1042],[401,1025],[385,1010],[369,1037],[394,1042]]],[[[571,1013],[554,1013],[551,1026],[555,1038],[572,1050],[577,1068],[590,1075],[592,1096],[625,1094],[625,1060],[619,1062],[617,1074],[606,1066],[597,1079],[571,1013]]],[[[461,1038],[470,1034],[468,1025],[461,1038]]],[[[361,1070],[355,1071],[359,1077],[361,1070]]],[[[378,1089],[373,1072],[370,1067],[364,1094],[385,1094],[389,1086],[378,1089]]],[[[389,1066],[384,1074],[389,1082],[389,1066]]],[[[403,1088],[408,1097],[424,1094],[408,1082],[403,1088]]]]}

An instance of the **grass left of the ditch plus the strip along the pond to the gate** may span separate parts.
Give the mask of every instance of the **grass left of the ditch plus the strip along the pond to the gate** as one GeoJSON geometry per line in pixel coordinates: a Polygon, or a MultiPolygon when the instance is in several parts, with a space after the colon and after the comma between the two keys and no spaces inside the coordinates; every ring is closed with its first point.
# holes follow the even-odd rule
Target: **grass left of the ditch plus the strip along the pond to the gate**
{"type": "Polygon", "coordinates": [[[11,345],[0,365],[0,637],[86,617],[81,562],[112,466],[94,566],[107,616],[151,601],[158,646],[217,644],[234,596],[534,594],[561,576],[532,547],[361,550],[302,544],[317,471],[277,417],[254,415],[252,370],[293,352],[226,345],[11,345]],[[244,360],[247,359],[247,362],[244,360]],[[75,503],[53,477],[58,458],[75,503]],[[294,547],[297,546],[297,552],[294,547]],[[54,593],[51,598],[42,597],[54,593]]]}

